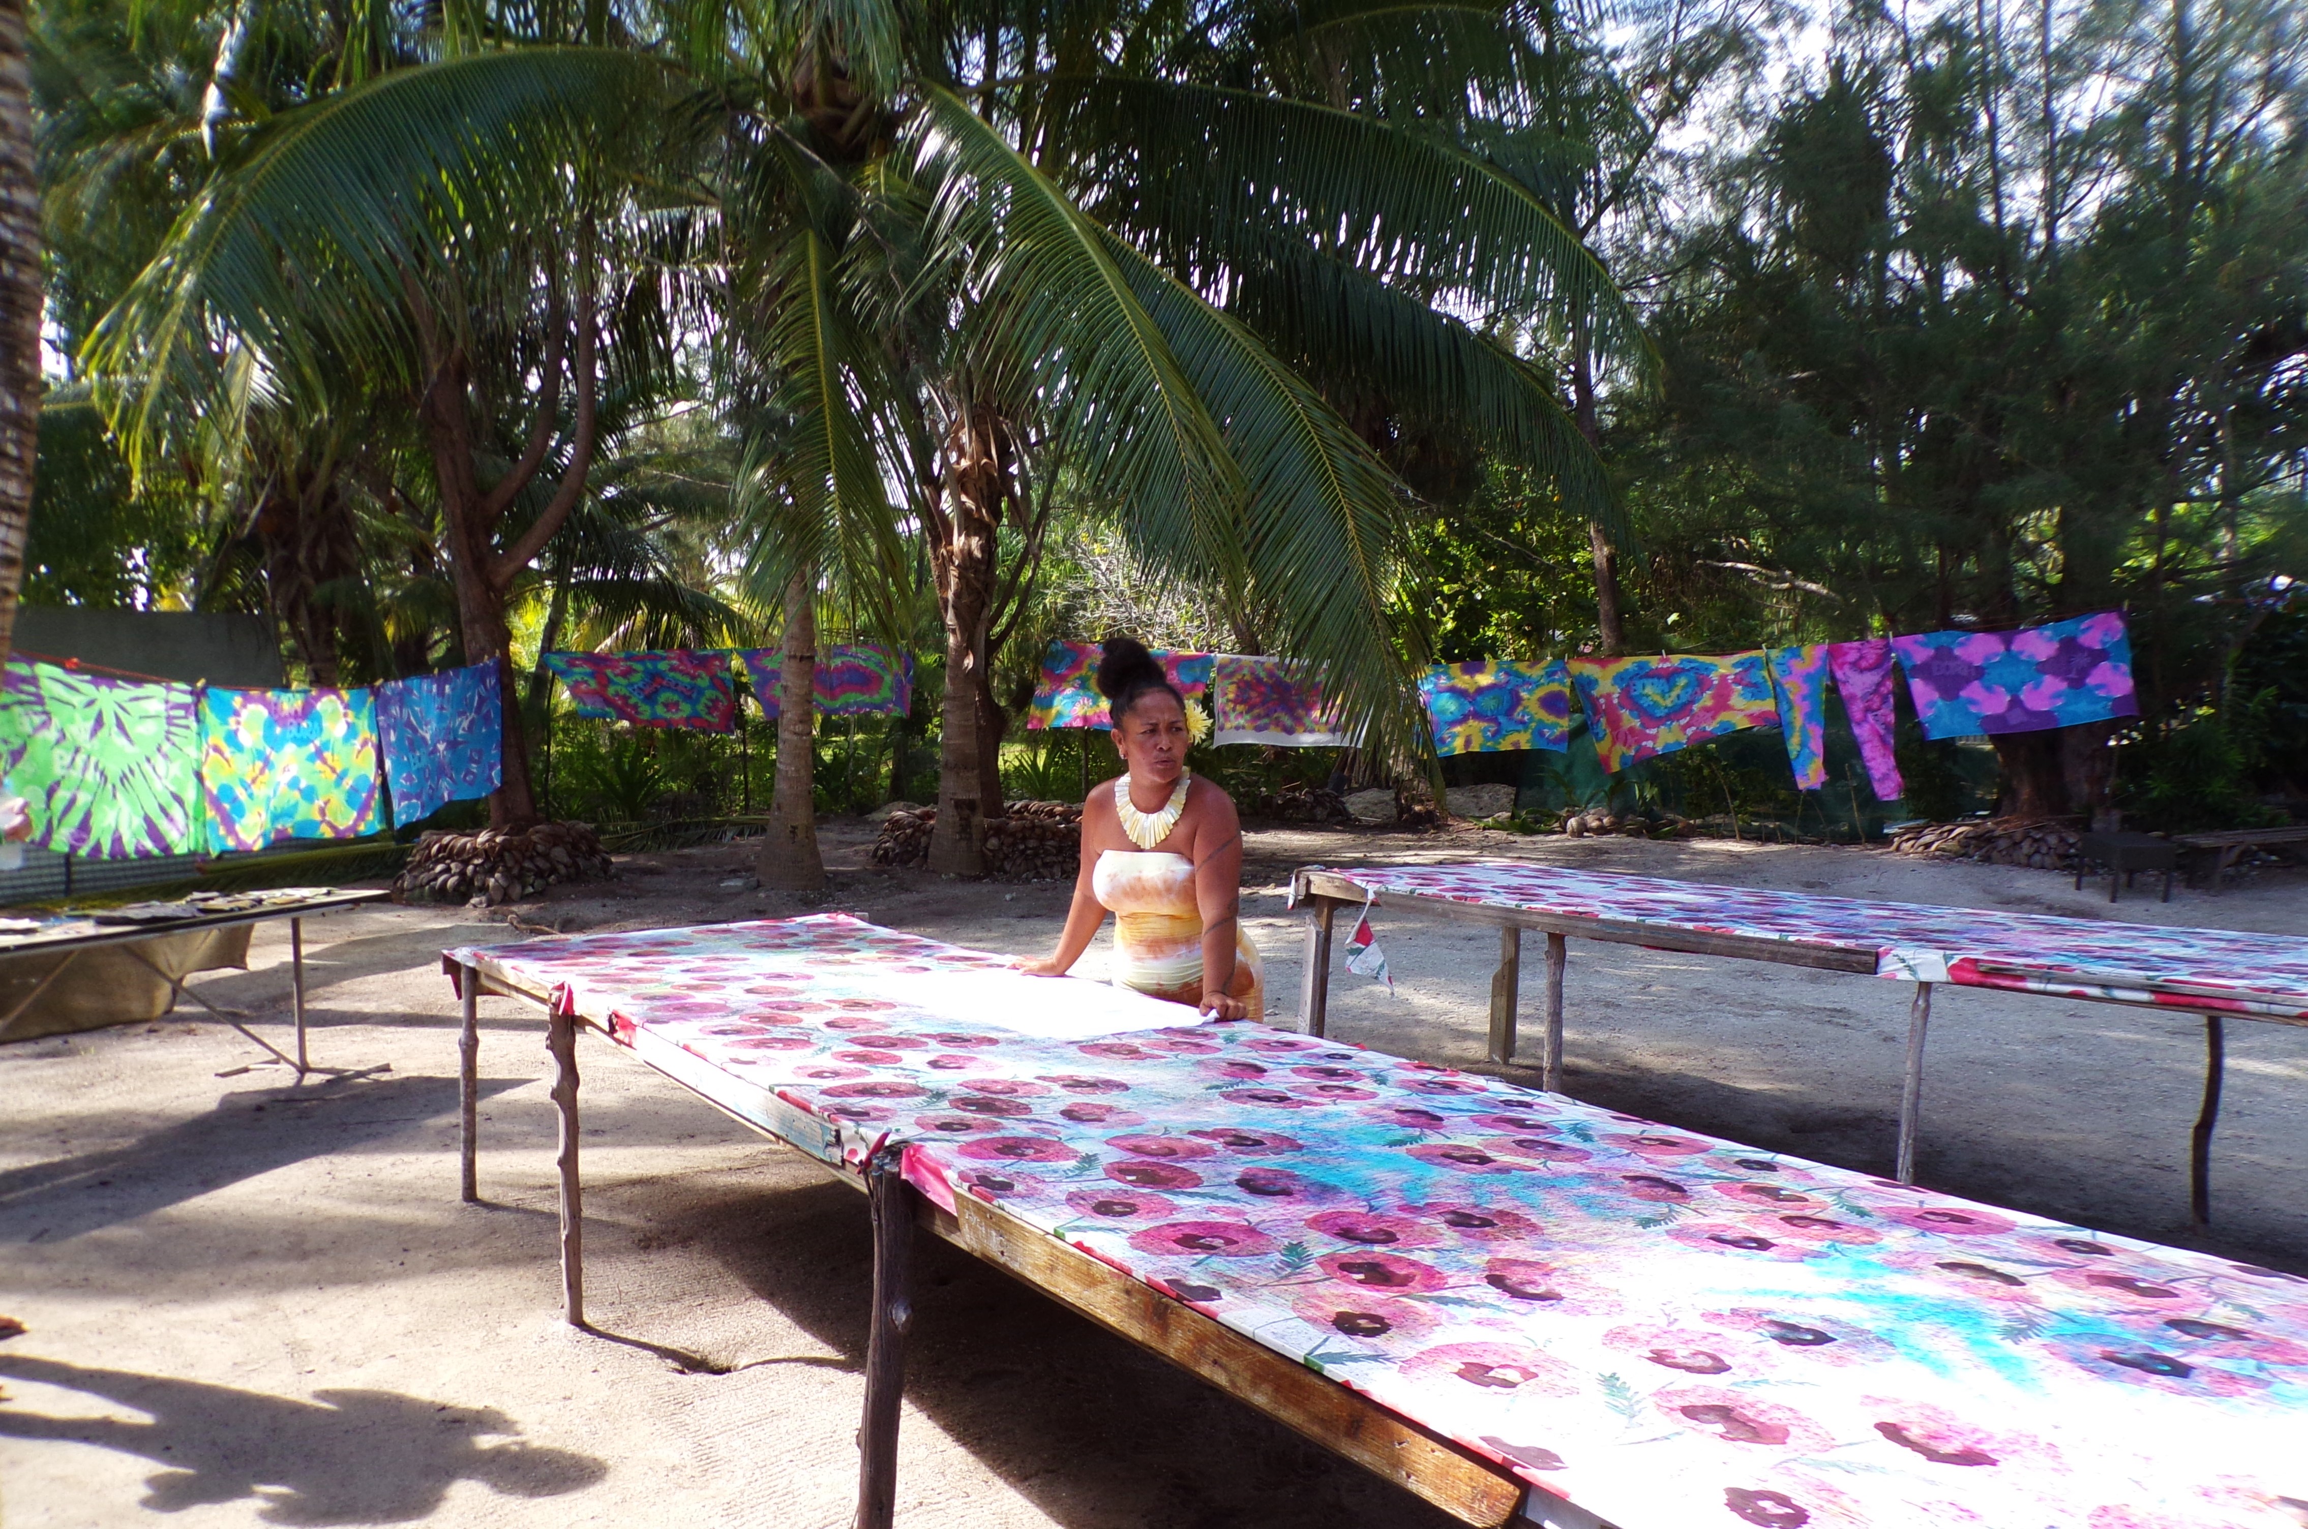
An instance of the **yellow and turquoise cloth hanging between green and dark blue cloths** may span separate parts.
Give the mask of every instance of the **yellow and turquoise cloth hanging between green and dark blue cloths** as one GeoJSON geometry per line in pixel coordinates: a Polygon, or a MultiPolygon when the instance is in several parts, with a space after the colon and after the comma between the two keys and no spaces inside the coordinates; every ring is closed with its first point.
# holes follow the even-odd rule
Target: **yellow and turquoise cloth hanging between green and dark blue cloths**
{"type": "Polygon", "coordinates": [[[367,690],[203,692],[201,796],[210,849],[376,833],[376,699],[367,690]]]}

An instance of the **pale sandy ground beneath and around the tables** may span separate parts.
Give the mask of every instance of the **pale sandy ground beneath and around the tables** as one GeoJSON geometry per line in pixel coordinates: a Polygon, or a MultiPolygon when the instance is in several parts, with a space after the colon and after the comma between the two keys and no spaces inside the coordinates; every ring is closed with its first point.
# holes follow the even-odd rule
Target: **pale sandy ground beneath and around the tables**
{"type": "MultiPolygon", "coordinates": [[[[826,828],[808,906],[995,950],[1052,943],[1066,888],[877,872],[826,828]]],[[[1699,881],[2308,929],[2308,879],[2116,909],[2047,872],[1722,842],[1258,833],[1246,886],[1269,1017],[1295,1024],[1297,863],[1519,853],[1699,881]]],[[[803,911],[722,886],[736,846],[642,856],[526,927],[803,911]]],[[[1496,934],[1380,916],[1399,989],[1339,973],[1332,1033],[1484,1068],[1496,934]]],[[[632,1063],[584,1049],[586,1278],[559,1321],[542,1026],[482,1005],[482,1195],[457,1202],[450,943],[503,911],[307,925],[314,1056],[390,1072],[305,1086],[187,1005],[155,1026],[0,1049],[0,1524],[845,1524],[865,1345],[865,1206],[632,1063]]],[[[286,932],[196,985],[284,1029],[286,932]]],[[[1092,952],[1089,962],[1103,957],[1092,952]]],[[[1526,976],[1526,1008],[1537,962],[1526,976]]],[[[1888,1169],[1906,987],[1572,943],[1567,1089],[1653,1118],[1888,1169]]],[[[1526,1072],[1514,1072],[1528,1077],[1526,1072]]],[[[1941,989],[1920,1176],[2163,1241],[2186,1229],[2202,1079],[2188,1017],[1941,989]]],[[[1535,1079],[1533,1079],[1535,1082],[1535,1079]]],[[[2230,1024],[2216,1236],[2308,1271],[2308,1033],[2230,1024]]],[[[1069,1529],[1426,1529],[1447,1520],[937,1243],[905,1416],[900,1522],[1069,1529]]]]}

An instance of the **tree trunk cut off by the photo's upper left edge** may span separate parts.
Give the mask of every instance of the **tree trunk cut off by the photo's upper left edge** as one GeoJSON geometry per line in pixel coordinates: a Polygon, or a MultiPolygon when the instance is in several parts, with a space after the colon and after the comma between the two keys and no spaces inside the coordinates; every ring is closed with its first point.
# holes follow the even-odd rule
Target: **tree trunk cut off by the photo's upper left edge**
{"type": "Polygon", "coordinates": [[[0,0],[0,660],[16,634],[39,454],[39,180],[25,0],[0,0]]]}

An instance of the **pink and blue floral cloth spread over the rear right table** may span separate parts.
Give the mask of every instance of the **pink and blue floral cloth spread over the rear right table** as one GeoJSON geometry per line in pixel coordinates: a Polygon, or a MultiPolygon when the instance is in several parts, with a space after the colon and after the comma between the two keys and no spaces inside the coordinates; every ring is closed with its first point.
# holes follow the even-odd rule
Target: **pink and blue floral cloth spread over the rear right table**
{"type": "Polygon", "coordinates": [[[2285,934],[1863,902],[1521,860],[1373,865],[1336,874],[1380,902],[1389,892],[1445,897],[1846,950],[1872,957],[1876,976],[1906,982],[2308,1019],[2308,939],[2285,934]]]}

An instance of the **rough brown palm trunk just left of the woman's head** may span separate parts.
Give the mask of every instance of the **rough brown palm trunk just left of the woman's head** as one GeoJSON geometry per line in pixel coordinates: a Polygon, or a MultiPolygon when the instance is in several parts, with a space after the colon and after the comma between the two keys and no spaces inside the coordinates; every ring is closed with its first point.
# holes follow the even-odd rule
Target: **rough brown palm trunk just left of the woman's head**
{"type": "Polygon", "coordinates": [[[983,874],[988,803],[1002,807],[999,738],[988,747],[986,646],[999,572],[1002,510],[1011,491],[1009,422],[981,406],[946,431],[944,505],[932,507],[932,574],[946,623],[944,738],[937,750],[937,823],[930,869],[983,874]],[[988,773],[988,759],[995,768],[988,773]]]}

